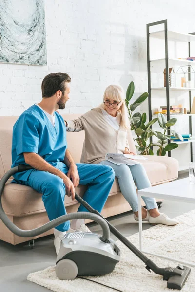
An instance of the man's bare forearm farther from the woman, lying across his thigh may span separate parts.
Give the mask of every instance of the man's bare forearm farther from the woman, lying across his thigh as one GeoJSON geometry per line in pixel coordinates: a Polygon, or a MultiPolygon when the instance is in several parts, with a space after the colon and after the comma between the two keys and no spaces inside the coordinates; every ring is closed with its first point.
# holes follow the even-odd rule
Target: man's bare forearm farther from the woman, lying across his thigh
{"type": "MultiPolygon", "coordinates": [[[[54,166],[50,165],[46,162],[41,156],[34,152],[24,152],[24,159],[25,163],[29,164],[33,168],[41,171],[48,171],[52,174],[55,174],[61,178],[66,186],[67,195],[70,197],[72,196],[72,200],[75,198],[75,187],[74,184],[71,182],[70,178],[66,176],[62,171],[55,168],[54,166]]],[[[67,165],[68,166],[68,165],[67,165]]],[[[76,166],[76,165],[75,165],[76,166]]]]}

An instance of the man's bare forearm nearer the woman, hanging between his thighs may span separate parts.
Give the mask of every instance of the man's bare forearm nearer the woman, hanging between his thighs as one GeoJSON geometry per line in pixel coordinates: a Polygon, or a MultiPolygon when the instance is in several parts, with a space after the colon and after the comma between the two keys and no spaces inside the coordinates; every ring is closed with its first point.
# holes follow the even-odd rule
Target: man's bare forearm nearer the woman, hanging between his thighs
{"type": "Polygon", "coordinates": [[[67,177],[69,177],[72,180],[74,187],[78,186],[80,178],[77,171],[77,165],[75,164],[72,155],[70,154],[70,151],[68,149],[66,149],[64,164],[66,164],[69,167],[67,177]]]}

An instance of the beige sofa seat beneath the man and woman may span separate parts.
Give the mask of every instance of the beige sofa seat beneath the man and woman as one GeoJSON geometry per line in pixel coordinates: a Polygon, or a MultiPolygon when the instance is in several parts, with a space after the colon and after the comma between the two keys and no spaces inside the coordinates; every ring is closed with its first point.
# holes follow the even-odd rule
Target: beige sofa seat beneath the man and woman
{"type": "MultiPolygon", "coordinates": [[[[175,169],[177,169],[178,164],[176,159],[161,156],[147,156],[147,158],[146,161],[141,161],[141,163],[146,169],[151,184],[164,183],[176,178],[177,172],[175,169]]],[[[82,197],[85,190],[86,186],[79,185],[76,188],[76,193],[82,197]]],[[[115,179],[109,196],[116,195],[118,192],[120,192],[120,188],[117,179],[115,179]]],[[[2,205],[8,215],[19,217],[32,215],[45,212],[41,197],[41,194],[29,186],[7,183],[2,196],[2,205]]],[[[74,204],[77,204],[76,200],[72,201],[71,197],[65,196],[64,205],[66,207],[74,204]]]]}

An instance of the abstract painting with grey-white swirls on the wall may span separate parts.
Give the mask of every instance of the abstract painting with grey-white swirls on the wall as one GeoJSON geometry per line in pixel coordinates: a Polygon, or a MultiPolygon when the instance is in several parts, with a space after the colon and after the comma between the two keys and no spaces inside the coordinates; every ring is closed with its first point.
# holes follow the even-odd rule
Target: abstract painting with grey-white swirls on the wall
{"type": "Polygon", "coordinates": [[[0,62],[47,64],[44,0],[0,0],[0,62]]]}

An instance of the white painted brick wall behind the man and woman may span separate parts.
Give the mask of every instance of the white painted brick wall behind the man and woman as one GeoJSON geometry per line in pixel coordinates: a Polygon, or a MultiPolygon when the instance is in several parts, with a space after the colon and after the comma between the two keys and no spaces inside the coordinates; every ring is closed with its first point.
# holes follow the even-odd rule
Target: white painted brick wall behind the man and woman
{"type": "Polygon", "coordinates": [[[19,115],[39,102],[51,72],[72,77],[62,113],[98,105],[109,84],[126,90],[134,80],[137,95],[147,91],[146,23],[168,19],[170,30],[195,31],[192,7],[193,0],[45,0],[48,65],[0,64],[0,115],[19,115]]]}

